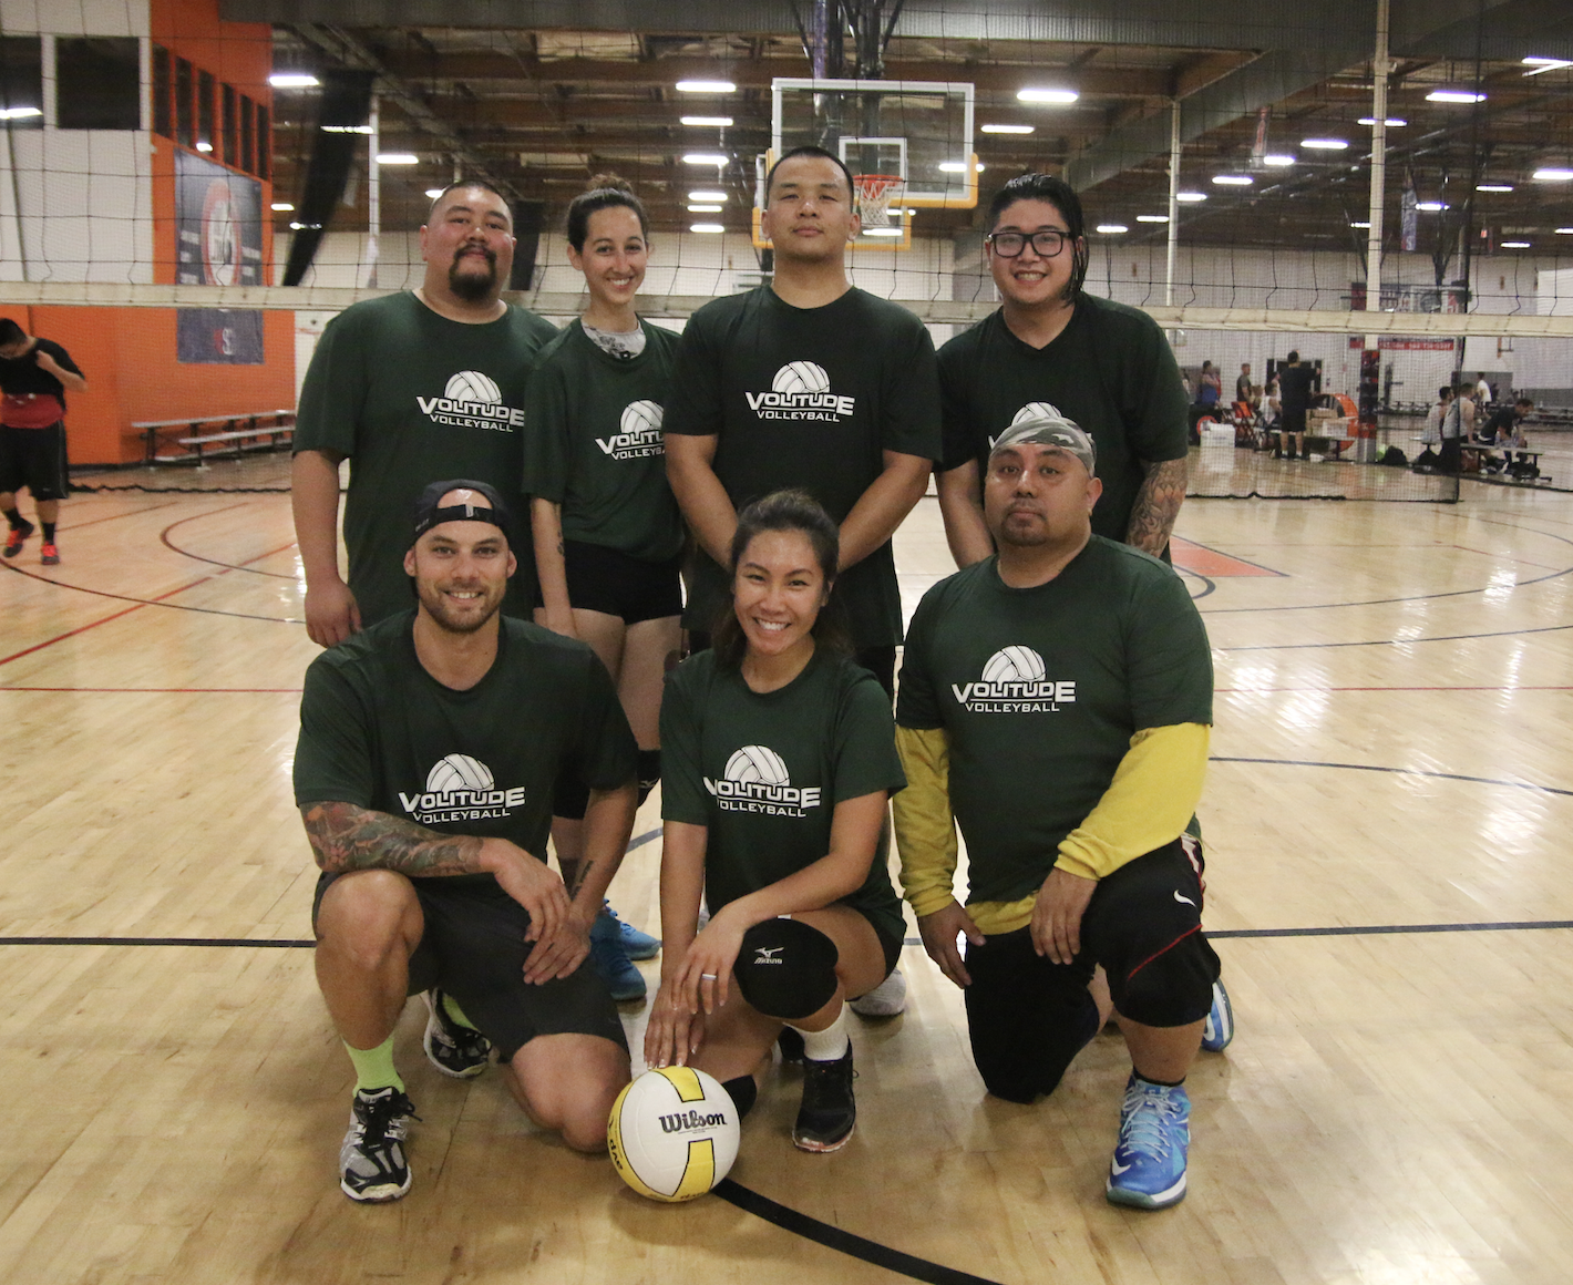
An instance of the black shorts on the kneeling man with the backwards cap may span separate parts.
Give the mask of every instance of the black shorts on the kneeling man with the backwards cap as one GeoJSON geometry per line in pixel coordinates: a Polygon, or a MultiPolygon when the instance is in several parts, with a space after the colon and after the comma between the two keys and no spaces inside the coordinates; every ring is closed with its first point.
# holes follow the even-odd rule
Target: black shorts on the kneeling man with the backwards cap
{"type": "MultiPolygon", "coordinates": [[[[311,926],[327,886],[316,881],[311,926]]],[[[530,914],[491,878],[411,879],[426,928],[409,956],[412,996],[440,986],[481,1033],[511,1059],[536,1035],[599,1035],[628,1052],[612,992],[588,956],[568,977],[532,986],[524,961],[530,914]]]]}

